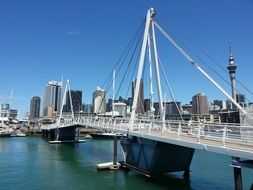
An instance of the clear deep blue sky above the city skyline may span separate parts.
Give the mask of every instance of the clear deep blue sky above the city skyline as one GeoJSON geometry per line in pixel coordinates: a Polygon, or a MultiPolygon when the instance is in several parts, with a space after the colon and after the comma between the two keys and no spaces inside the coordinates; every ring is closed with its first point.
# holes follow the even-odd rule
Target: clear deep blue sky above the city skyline
{"type": "MultiPolygon", "coordinates": [[[[92,92],[103,85],[150,7],[156,10],[156,22],[197,62],[202,60],[199,64],[229,93],[230,86],[203,63],[226,80],[228,74],[203,52],[226,69],[231,41],[237,78],[253,91],[253,0],[0,0],[2,101],[11,103],[22,116],[33,96],[43,97],[48,81],[63,77],[70,80],[72,89],[83,91],[83,103],[91,103],[92,92]]],[[[226,100],[156,34],[158,54],[177,100],[189,103],[198,92],[209,101],[226,100]]],[[[116,88],[122,75],[116,78],[116,88]]],[[[127,84],[122,86],[126,91],[127,84]]],[[[250,93],[237,87],[253,101],[250,93]]],[[[170,99],[169,92],[164,94],[170,99]]]]}

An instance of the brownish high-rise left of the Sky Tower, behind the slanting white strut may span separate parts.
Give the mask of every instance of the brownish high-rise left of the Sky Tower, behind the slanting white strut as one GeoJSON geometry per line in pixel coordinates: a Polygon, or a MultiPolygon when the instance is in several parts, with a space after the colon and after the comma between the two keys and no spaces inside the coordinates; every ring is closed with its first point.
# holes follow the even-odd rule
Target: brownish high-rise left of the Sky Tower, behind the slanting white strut
{"type": "Polygon", "coordinates": [[[207,96],[198,93],[192,97],[192,114],[209,114],[207,96]]]}

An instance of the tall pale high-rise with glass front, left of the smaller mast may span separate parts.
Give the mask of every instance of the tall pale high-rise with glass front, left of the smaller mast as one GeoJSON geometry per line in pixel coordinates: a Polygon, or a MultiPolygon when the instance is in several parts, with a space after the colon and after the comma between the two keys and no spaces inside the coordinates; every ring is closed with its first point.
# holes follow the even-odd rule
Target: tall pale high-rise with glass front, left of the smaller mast
{"type": "Polygon", "coordinates": [[[56,116],[60,113],[62,97],[62,83],[49,81],[45,88],[43,115],[56,116]]]}

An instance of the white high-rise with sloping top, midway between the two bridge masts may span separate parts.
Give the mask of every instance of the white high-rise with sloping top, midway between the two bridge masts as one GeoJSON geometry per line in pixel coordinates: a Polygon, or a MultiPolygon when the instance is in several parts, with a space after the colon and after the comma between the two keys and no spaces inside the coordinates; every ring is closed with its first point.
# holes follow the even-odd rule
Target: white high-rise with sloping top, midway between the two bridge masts
{"type": "Polygon", "coordinates": [[[93,92],[92,100],[93,113],[104,114],[106,111],[106,91],[97,87],[96,91],[93,92]]]}

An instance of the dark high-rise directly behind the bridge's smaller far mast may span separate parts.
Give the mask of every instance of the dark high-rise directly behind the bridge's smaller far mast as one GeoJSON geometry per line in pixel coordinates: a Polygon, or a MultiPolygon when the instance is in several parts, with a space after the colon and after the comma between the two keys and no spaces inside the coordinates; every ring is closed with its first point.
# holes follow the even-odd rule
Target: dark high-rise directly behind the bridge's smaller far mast
{"type": "Polygon", "coordinates": [[[73,112],[80,113],[82,111],[82,91],[70,90],[66,92],[65,112],[71,112],[70,96],[72,100],[73,112]]]}

